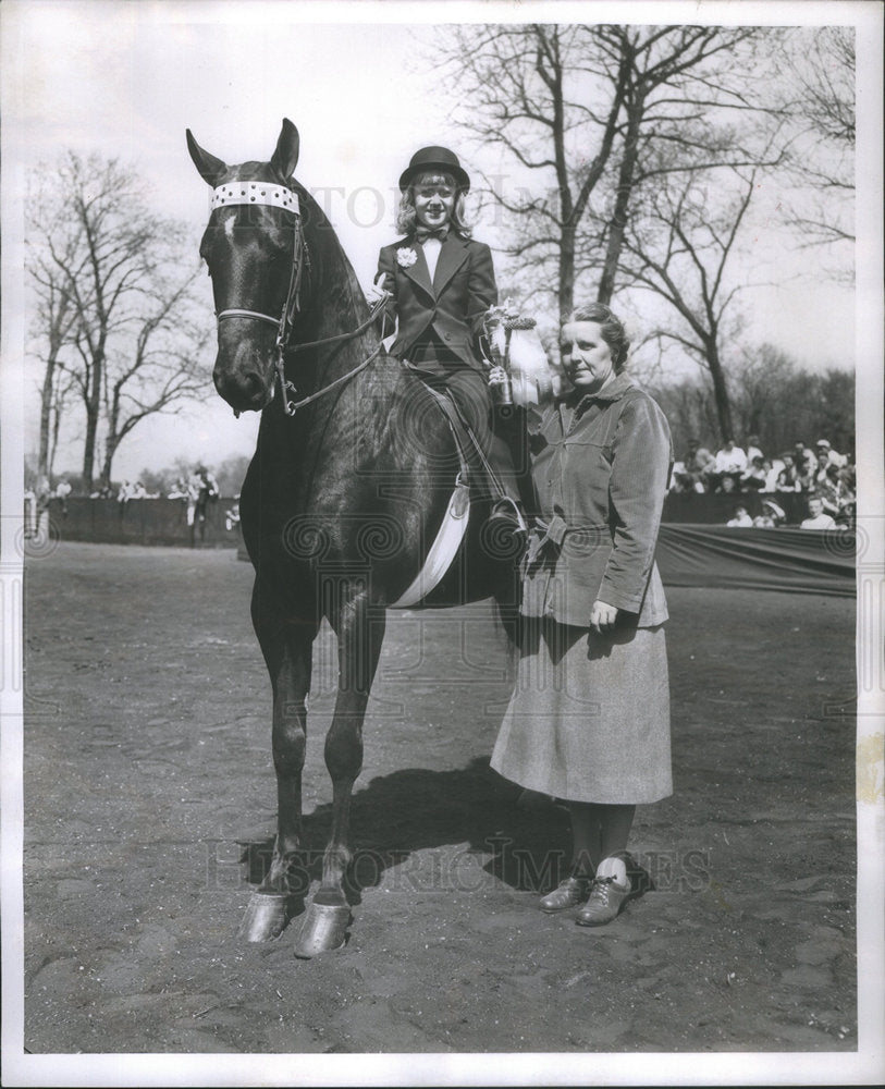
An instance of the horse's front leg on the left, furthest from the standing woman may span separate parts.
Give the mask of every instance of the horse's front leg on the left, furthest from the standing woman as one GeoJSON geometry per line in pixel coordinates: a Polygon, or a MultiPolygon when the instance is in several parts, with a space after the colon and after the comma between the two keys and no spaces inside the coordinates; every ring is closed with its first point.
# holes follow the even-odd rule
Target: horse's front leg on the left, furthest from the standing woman
{"type": "Polygon", "coordinates": [[[302,771],[307,747],[315,624],[269,626],[256,616],[273,686],[273,768],[276,772],[276,839],[270,868],[253,895],[239,932],[247,941],[279,937],[288,921],[292,867],[302,846],[302,771]]]}

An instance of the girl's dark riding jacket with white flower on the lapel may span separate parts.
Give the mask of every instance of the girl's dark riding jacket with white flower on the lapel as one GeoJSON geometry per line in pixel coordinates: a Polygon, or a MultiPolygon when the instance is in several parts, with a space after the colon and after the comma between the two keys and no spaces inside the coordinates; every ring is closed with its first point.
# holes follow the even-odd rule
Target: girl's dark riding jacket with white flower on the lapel
{"type": "Polygon", "coordinates": [[[384,246],[378,271],[384,273],[381,286],[392,296],[382,334],[400,320],[392,355],[408,358],[416,344],[433,338],[466,366],[482,369],[477,346],[482,319],[497,302],[492,252],[484,243],[450,230],[431,282],[423,248],[411,234],[384,246]]]}

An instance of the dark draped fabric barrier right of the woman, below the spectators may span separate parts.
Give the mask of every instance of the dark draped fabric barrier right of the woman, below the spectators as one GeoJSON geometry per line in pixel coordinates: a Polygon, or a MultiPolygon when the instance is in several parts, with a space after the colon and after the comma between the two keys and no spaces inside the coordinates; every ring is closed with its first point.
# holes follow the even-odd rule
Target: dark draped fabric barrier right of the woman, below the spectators
{"type": "Polygon", "coordinates": [[[666,586],[853,597],[855,549],[851,529],[662,525],[656,559],[666,586]]]}

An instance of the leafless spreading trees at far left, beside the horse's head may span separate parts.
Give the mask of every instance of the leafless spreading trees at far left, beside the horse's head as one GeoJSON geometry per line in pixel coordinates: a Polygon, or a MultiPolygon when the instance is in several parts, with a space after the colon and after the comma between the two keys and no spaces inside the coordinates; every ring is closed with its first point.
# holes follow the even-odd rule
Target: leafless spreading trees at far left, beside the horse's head
{"type": "Polygon", "coordinates": [[[206,380],[197,377],[196,364],[202,339],[181,320],[196,270],[179,248],[181,228],[148,209],[136,174],[118,160],[70,152],[58,169],[41,167],[37,176],[28,269],[47,345],[40,450],[41,456],[48,452],[47,405],[61,368],[83,406],[88,491],[102,421],[107,476],[120,441],[138,419],[193,395],[206,380]],[[132,395],[124,409],[126,393],[132,395]]]}

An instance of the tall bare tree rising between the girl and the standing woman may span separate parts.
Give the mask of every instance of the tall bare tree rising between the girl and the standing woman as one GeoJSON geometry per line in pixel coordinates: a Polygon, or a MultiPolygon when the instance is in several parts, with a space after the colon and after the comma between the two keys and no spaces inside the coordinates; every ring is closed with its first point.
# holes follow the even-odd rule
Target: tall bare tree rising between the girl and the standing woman
{"type": "MultiPolygon", "coordinates": [[[[609,66],[597,30],[581,25],[455,25],[450,34],[442,57],[467,103],[463,126],[516,167],[515,174],[484,179],[515,219],[508,253],[521,270],[554,265],[558,309],[567,311],[577,235],[618,130],[627,58],[609,66]],[[513,192],[520,173],[532,185],[513,192]]],[[[538,290],[546,282],[539,277],[538,290]]]]}

